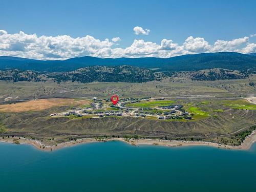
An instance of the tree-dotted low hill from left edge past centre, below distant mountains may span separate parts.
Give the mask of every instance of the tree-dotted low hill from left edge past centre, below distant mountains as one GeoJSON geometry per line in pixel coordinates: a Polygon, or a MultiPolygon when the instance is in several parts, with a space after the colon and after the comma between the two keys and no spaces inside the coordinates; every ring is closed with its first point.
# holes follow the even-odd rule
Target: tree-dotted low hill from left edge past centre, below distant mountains
{"type": "Polygon", "coordinates": [[[146,82],[167,77],[162,72],[133,66],[91,66],[71,72],[37,72],[22,70],[0,71],[0,80],[17,81],[77,81],[89,82],[146,82]]]}

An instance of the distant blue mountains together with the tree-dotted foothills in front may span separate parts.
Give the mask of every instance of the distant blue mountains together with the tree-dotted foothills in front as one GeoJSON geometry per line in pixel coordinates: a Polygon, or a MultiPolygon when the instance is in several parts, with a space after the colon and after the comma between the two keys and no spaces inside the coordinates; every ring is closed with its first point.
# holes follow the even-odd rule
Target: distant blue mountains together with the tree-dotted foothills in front
{"type": "Polygon", "coordinates": [[[256,73],[256,56],[232,52],[172,58],[96,58],[42,61],[0,57],[0,80],[146,82],[183,76],[192,80],[247,78],[256,73]]]}

